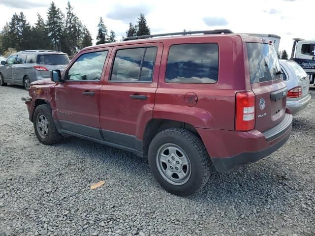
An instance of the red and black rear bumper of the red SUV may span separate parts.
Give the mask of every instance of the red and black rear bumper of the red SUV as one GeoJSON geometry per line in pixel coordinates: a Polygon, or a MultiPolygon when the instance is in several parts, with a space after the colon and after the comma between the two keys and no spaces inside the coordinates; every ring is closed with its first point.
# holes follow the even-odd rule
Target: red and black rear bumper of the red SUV
{"type": "Polygon", "coordinates": [[[197,130],[216,170],[226,173],[256,162],[281,148],[290,137],[292,115],[286,113],[283,121],[263,133],[257,130],[197,130]]]}

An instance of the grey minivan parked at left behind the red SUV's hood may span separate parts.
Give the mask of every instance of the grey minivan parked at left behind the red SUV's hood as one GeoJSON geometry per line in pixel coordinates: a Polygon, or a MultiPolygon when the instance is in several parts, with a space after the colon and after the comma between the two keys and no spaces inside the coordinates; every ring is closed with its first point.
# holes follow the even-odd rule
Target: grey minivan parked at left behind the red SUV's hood
{"type": "Polygon", "coordinates": [[[50,71],[63,71],[68,55],[51,50],[26,50],[12,54],[0,65],[0,86],[21,85],[29,90],[36,80],[49,79],[50,71]]]}

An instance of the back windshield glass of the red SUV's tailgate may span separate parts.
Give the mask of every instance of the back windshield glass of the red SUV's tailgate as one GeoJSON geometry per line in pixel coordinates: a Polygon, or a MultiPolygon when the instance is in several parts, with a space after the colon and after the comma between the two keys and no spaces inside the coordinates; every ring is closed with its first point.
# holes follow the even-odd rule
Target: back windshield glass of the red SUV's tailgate
{"type": "Polygon", "coordinates": [[[246,43],[251,83],[281,78],[281,68],[275,47],[265,43],[246,43]]]}

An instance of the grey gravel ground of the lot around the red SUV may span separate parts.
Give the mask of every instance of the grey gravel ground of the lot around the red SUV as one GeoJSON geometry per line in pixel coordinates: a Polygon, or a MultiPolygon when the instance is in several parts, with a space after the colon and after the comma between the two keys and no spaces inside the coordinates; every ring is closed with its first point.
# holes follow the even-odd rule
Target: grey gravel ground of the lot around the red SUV
{"type": "Polygon", "coordinates": [[[74,137],[37,141],[28,93],[0,87],[0,236],[315,235],[315,90],[289,141],[214,173],[190,197],[165,192],[146,159],[74,137]],[[92,183],[105,184],[92,190],[92,183]]]}

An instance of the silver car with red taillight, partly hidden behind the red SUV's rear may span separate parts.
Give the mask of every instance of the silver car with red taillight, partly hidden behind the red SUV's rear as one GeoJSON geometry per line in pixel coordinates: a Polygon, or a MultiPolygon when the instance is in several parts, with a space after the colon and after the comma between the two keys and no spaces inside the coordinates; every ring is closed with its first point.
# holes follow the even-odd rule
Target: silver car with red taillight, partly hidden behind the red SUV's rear
{"type": "Polygon", "coordinates": [[[303,112],[311,101],[310,81],[303,68],[294,60],[280,60],[284,83],[288,89],[286,107],[292,115],[303,112]]]}

